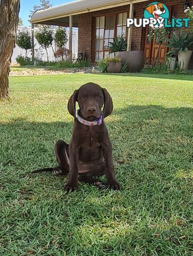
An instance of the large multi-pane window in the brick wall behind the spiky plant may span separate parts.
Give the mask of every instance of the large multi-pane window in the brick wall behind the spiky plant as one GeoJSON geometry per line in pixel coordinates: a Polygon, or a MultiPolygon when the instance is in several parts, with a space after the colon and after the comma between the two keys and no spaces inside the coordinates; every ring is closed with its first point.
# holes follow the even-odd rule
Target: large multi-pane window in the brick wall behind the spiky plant
{"type": "Polygon", "coordinates": [[[115,36],[126,37],[127,13],[112,14],[95,18],[94,52],[95,61],[106,56],[113,57],[108,46],[115,36]]]}

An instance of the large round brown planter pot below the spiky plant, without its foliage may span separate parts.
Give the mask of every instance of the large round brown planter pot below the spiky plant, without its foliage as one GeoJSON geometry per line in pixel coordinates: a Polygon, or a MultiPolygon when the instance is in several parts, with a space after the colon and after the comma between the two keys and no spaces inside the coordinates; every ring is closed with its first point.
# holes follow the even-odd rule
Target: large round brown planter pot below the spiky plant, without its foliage
{"type": "Polygon", "coordinates": [[[127,63],[129,72],[140,72],[145,65],[144,51],[125,51],[117,52],[117,57],[121,58],[123,63],[127,63]]]}

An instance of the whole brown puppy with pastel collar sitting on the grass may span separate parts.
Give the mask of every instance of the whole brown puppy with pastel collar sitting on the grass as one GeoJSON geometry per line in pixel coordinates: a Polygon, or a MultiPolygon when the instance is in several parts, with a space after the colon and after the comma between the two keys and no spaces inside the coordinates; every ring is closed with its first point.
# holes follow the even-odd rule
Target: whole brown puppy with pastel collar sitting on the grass
{"type": "Polygon", "coordinates": [[[104,123],[104,118],[113,110],[110,94],[97,84],[87,83],[74,91],[68,102],[68,110],[74,117],[72,138],[70,145],[62,140],[56,142],[55,154],[59,166],[34,172],[53,171],[55,175],[69,173],[65,191],[77,188],[78,175],[80,181],[102,188],[102,182],[95,177],[104,174],[108,188],[120,189],[114,174],[112,145],[104,123]],[[77,113],[75,102],[80,107],[77,113]]]}

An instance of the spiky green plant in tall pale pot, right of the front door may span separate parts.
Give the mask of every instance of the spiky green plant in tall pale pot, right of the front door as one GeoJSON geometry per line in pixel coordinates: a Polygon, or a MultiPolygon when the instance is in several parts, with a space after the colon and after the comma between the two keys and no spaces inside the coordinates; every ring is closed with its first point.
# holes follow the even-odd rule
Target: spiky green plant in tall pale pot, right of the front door
{"type": "Polygon", "coordinates": [[[192,37],[188,33],[182,35],[181,30],[179,30],[178,36],[172,34],[171,38],[167,40],[169,42],[167,46],[171,48],[168,52],[169,56],[178,54],[180,67],[184,70],[188,69],[188,63],[192,54],[192,50],[188,50],[188,47],[192,44],[192,37]]]}

